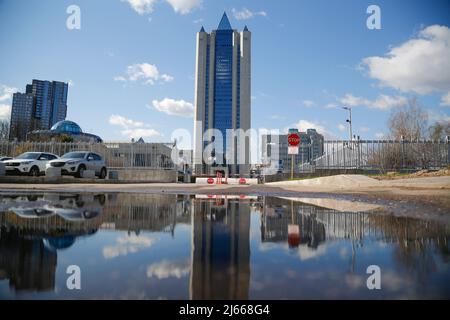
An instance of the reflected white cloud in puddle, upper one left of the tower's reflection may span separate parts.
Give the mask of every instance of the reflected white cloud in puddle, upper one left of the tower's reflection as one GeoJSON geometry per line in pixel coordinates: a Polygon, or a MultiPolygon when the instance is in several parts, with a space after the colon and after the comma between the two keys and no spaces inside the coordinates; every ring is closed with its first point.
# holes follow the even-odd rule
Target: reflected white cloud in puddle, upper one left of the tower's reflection
{"type": "Polygon", "coordinates": [[[113,259],[118,256],[126,256],[129,253],[136,253],[151,247],[156,241],[156,238],[137,235],[118,237],[116,245],[103,248],[103,257],[105,259],[113,259]]]}

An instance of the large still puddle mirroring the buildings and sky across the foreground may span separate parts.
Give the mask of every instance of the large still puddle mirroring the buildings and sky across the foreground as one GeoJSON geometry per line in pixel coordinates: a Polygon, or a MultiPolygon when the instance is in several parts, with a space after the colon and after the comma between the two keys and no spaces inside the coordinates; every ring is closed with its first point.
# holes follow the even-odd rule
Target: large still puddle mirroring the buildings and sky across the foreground
{"type": "Polygon", "coordinates": [[[450,298],[442,214],[336,208],[260,195],[3,194],[0,299],[450,298]],[[79,290],[67,286],[73,265],[79,290]],[[379,290],[367,287],[371,265],[379,290]]]}

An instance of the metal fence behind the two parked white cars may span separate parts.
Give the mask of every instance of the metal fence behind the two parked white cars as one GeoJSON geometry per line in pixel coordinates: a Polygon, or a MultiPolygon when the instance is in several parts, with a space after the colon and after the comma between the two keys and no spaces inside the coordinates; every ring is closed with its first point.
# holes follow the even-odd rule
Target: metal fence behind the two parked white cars
{"type": "Polygon", "coordinates": [[[175,168],[171,160],[172,148],[166,143],[0,141],[0,156],[15,157],[28,151],[49,152],[58,156],[70,151],[97,152],[109,168],[175,168]]]}

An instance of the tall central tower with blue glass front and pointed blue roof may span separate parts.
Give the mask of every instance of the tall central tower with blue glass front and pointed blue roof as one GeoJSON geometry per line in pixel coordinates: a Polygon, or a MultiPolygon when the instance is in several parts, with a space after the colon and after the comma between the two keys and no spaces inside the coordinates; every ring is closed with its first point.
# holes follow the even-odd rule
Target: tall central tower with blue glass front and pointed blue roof
{"type": "Polygon", "coordinates": [[[193,156],[197,174],[218,168],[228,173],[249,169],[250,141],[232,136],[230,130],[250,129],[250,94],[251,33],[247,27],[233,30],[224,13],[217,30],[207,33],[202,27],[197,33],[193,156]]]}

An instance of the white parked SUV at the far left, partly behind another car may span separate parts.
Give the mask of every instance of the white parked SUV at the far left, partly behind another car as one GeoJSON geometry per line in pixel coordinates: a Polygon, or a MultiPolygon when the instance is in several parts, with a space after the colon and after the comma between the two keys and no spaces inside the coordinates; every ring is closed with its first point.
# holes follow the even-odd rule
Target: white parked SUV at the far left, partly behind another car
{"type": "Polygon", "coordinates": [[[27,174],[37,177],[45,174],[47,163],[54,159],[58,159],[58,156],[52,153],[25,152],[3,163],[7,174],[27,174]]]}

